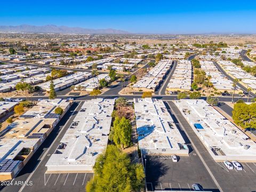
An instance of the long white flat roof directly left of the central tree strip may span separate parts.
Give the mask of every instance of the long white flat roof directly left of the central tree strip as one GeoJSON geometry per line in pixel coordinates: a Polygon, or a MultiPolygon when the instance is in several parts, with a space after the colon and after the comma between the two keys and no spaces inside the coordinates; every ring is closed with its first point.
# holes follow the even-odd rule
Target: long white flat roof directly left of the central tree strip
{"type": "MultiPolygon", "coordinates": [[[[92,167],[95,159],[107,147],[111,126],[111,113],[114,99],[92,99],[84,101],[69,129],[61,139],[60,147],[46,163],[47,167],[56,167],[56,171],[70,170],[70,167],[92,167]],[[69,168],[65,168],[65,167],[69,168]]],[[[51,168],[53,171],[54,168],[51,168]]],[[[85,169],[85,170],[84,170],[85,169]]]]}

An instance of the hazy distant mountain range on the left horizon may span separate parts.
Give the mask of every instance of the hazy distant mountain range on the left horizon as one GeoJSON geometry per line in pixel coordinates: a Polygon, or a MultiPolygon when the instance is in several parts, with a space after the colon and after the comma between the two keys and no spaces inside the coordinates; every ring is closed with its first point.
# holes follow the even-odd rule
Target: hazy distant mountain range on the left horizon
{"type": "Polygon", "coordinates": [[[86,29],[81,27],[67,26],[0,26],[0,32],[17,32],[17,33],[55,33],[55,34],[130,34],[127,31],[117,29],[86,29]]]}

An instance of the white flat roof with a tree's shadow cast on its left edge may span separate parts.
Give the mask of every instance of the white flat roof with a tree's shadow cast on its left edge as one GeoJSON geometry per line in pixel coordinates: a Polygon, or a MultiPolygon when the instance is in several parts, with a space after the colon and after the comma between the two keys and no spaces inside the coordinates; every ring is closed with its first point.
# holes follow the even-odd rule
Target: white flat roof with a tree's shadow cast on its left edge
{"type": "Polygon", "coordinates": [[[150,155],[188,154],[180,131],[162,100],[134,99],[139,148],[150,155]]]}

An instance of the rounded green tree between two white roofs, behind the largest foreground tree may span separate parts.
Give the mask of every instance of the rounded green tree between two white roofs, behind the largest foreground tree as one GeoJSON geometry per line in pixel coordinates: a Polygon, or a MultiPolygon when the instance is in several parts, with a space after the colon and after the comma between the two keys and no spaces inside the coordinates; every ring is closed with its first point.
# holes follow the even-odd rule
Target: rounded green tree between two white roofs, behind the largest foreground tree
{"type": "Polygon", "coordinates": [[[118,147],[131,145],[132,125],[125,117],[116,117],[113,123],[113,141],[118,147]]]}

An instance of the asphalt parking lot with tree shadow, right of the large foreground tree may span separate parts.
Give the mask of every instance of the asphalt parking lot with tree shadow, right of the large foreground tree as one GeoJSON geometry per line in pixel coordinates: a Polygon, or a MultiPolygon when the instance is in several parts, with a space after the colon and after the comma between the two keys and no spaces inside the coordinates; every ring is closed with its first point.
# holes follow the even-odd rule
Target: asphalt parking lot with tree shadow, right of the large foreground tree
{"type": "Polygon", "coordinates": [[[180,156],[177,163],[172,162],[170,156],[146,156],[146,159],[148,191],[190,191],[194,183],[207,191],[219,191],[194,150],[189,156],[180,156]]]}

